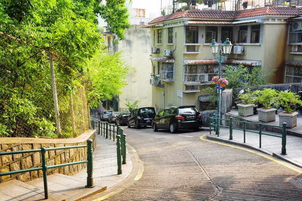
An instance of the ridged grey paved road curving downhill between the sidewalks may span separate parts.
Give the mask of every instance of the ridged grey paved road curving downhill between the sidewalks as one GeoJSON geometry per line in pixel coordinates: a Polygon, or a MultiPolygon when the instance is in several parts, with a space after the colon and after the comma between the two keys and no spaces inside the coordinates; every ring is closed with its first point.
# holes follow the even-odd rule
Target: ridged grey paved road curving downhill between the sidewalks
{"type": "MultiPolygon", "coordinates": [[[[203,141],[207,132],[124,128],[144,171],[105,200],[301,200],[300,173],[236,147],[203,141]]],[[[301,172],[301,171],[300,171],[301,172]]]]}

